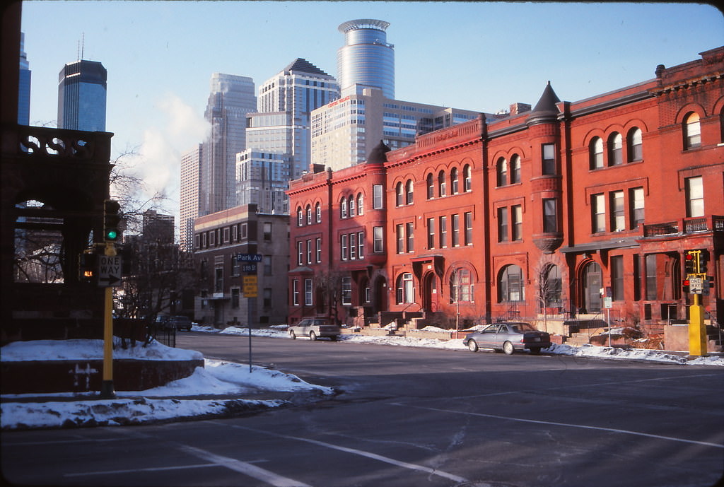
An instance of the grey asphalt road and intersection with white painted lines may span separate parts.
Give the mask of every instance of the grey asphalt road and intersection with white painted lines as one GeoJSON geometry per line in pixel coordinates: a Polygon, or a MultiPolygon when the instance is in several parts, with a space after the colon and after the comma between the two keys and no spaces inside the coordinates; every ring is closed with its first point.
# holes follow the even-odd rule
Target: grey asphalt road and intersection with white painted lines
{"type": "MultiPolygon", "coordinates": [[[[232,419],[2,434],[17,484],[709,487],[724,370],[253,338],[253,362],[336,397],[232,419]]],[[[245,363],[248,339],[177,346],[245,363]]]]}

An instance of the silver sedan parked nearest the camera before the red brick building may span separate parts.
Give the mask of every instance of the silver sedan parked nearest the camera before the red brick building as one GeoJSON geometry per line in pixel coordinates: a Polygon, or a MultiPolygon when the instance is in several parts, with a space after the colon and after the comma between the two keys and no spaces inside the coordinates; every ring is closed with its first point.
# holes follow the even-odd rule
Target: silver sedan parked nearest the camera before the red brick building
{"type": "Polygon", "coordinates": [[[463,344],[471,352],[492,348],[510,355],[515,350],[527,348],[531,353],[538,353],[542,348],[550,347],[550,334],[537,330],[531,323],[493,323],[481,331],[467,334],[463,344]]]}

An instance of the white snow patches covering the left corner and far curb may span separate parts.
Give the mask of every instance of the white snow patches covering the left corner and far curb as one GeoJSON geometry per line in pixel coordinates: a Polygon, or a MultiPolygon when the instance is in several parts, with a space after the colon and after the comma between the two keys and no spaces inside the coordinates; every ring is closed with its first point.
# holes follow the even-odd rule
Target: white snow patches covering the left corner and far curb
{"type": "MultiPolygon", "coordinates": [[[[286,326],[251,329],[252,336],[287,338],[286,326]]],[[[206,326],[193,326],[193,331],[248,336],[249,329],[229,327],[220,331],[206,326]]],[[[432,347],[447,350],[467,350],[462,339],[439,340],[403,336],[363,336],[344,334],[340,338],[352,343],[375,343],[397,347],[432,347]]],[[[203,357],[200,352],[166,347],[158,342],[148,347],[136,346],[123,350],[116,342],[116,358],[148,360],[185,360],[203,357]]],[[[724,366],[724,357],[710,356],[688,360],[672,352],[644,349],[620,349],[583,345],[554,344],[544,349],[554,355],[599,357],[606,359],[652,360],[681,365],[724,366]]],[[[103,357],[102,340],[38,340],[13,342],[0,350],[0,359],[64,360],[103,357]]],[[[227,415],[232,412],[258,410],[287,405],[283,399],[243,399],[264,391],[308,392],[319,396],[334,394],[332,389],[302,381],[297,376],[263,367],[205,360],[192,376],[145,391],[117,391],[116,399],[97,399],[96,392],[46,394],[4,394],[0,415],[3,430],[25,428],[59,428],[77,425],[125,425],[157,420],[227,415]]]]}

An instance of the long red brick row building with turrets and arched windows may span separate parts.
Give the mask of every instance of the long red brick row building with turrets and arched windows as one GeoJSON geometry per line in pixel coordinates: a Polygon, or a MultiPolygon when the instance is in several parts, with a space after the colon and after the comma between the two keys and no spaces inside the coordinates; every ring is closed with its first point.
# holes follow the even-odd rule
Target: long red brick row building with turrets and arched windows
{"type": "Polygon", "coordinates": [[[723,323],[724,47],[700,55],[577,102],[549,82],[532,110],[292,182],[290,321],[657,330],[686,319],[682,257],[705,249],[723,323]]]}

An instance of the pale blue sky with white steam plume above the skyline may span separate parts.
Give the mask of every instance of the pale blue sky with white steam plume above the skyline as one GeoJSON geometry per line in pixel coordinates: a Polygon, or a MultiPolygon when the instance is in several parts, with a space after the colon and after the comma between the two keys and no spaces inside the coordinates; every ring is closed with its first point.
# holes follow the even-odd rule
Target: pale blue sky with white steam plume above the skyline
{"type": "Polygon", "coordinates": [[[579,101],[655,77],[724,45],[709,4],[442,1],[22,2],[30,124],[54,127],[58,74],[79,57],[108,70],[111,159],[179,213],[181,154],[203,142],[214,72],[264,81],[298,57],[337,75],[348,20],[390,22],[395,98],[495,112],[534,105],[550,80],[579,101]]]}

